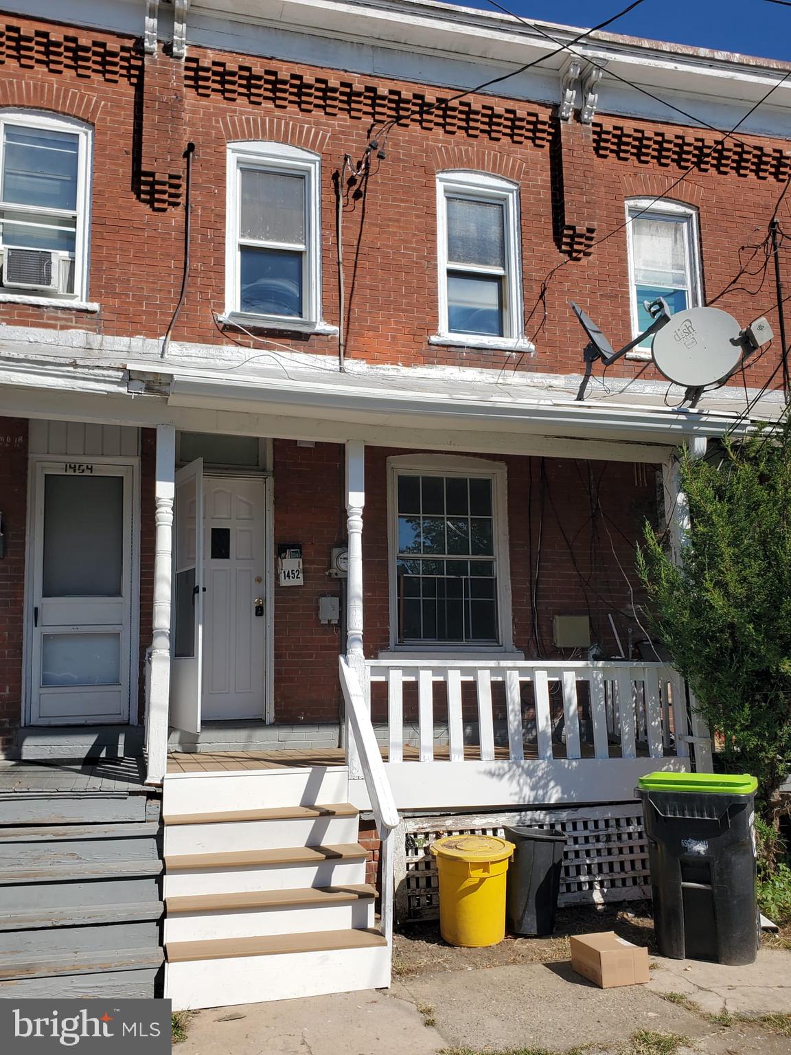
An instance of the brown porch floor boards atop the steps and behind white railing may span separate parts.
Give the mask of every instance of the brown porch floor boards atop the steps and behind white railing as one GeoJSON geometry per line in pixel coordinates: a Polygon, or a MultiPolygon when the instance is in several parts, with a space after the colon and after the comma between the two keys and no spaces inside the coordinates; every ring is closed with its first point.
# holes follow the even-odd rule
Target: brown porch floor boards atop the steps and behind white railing
{"type": "MultiPolygon", "coordinates": [[[[555,744],[554,757],[564,759],[565,747],[562,744],[555,744]]],[[[387,748],[380,747],[382,757],[387,762],[387,748]]],[[[595,757],[592,744],[583,744],[581,754],[583,759],[595,757]]],[[[446,762],[449,755],[447,745],[436,745],[433,756],[436,762],[446,762]]],[[[524,757],[526,762],[538,760],[538,750],[535,745],[525,744],[524,757]]],[[[617,744],[610,745],[611,759],[620,759],[620,747],[617,744]]],[[[638,748],[638,757],[648,757],[645,749],[638,748]]],[[[477,744],[466,744],[464,747],[464,757],[466,761],[475,762],[481,757],[480,747],[477,744]]],[[[508,761],[508,748],[496,747],[495,757],[508,761]]],[[[404,762],[419,762],[420,752],[417,747],[404,747],[404,762]]],[[[168,755],[169,773],[216,773],[218,770],[242,770],[242,769],[291,769],[302,766],[343,766],[346,765],[346,753],[342,747],[305,748],[282,751],[176,751],[168,755]]]]}

